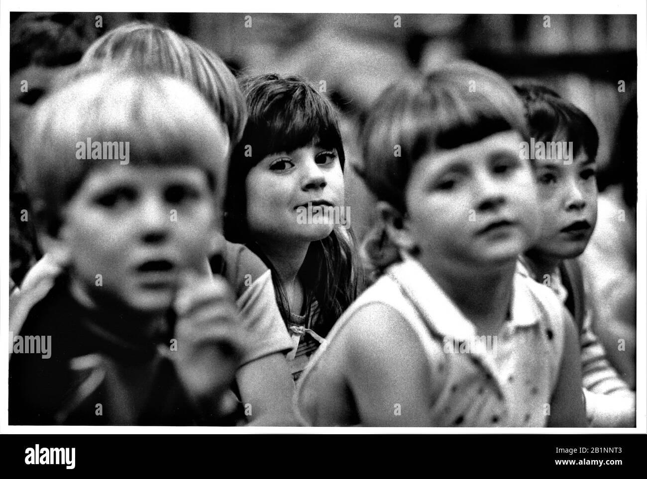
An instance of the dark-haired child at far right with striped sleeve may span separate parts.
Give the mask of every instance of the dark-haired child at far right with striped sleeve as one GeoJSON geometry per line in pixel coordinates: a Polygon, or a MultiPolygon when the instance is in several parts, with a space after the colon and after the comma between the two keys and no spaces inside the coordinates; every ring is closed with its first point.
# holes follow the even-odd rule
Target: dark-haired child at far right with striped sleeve
{"type": "Polygon", "coordinates": [[[544,154],[534,155],[542,212],[538,240],[525,252],[526,273],[556,293],[575,318],[580,333],[582,383],[592,427],[633,427],[635,393],[605,357],[591,326],[590,308],[577,257],[586,248],[597,220],[595,158],[598,133],[578,107],[541,85],[515,87],[525,103],[532,140],[544,154]],[[553,155],[567,144],[569,155],[553,155]]]}

